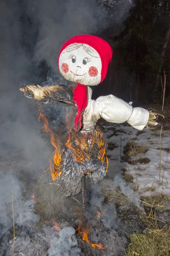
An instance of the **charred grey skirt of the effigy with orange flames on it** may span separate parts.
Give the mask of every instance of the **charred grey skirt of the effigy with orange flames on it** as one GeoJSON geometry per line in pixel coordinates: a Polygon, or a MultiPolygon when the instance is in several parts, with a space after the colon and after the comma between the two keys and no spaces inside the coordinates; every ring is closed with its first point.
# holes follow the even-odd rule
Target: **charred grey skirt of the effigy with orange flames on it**
{"type": "Polygon", "coordinates": [[[54,173],[59,173],[57,183],[63,197],[78,194],[82,189],[82,176],[96,183],[106,175],[108,157],[102,133],[96,128],[91,132],[71,131],[60,166],[54,164],[54,173]]]}

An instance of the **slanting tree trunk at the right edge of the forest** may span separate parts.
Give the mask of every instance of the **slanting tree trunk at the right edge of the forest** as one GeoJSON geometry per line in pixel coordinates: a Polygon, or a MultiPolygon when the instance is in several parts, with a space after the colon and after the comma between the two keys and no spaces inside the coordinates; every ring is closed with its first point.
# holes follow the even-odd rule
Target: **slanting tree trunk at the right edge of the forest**
{"type": "Polygon", "coordinates": [[[169,39],[170,39],[170,22],[169,22],[169,29],[166,32],[166,35],[165,35],[165,38],[164,38],[164,44],[163,44],[162,50],[161,50],[161,63],[159,65],[159,69],[158,69],[158,72],[157,72],[157,75],[156,75],[155,87],[154,87],[154,90],[153,90],[153,99],[157,98],[156,94],[158,92],[159,82],[161,81],[161,78],[160,78],[161,77],[161,70],[162,70],[162,66],[163,66],[163,62],[164,62],[164,55],[165,55],[165,52],[166,52],[166,49],[167,49],[167,44],[168,44],[169,39]]]}

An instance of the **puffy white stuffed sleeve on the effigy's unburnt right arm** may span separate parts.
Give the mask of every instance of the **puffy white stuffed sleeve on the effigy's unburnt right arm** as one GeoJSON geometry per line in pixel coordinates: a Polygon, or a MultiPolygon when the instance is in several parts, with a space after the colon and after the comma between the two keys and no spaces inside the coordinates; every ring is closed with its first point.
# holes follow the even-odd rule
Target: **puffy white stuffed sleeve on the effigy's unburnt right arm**
{"type": "Polygon", "coordinates": [[[133,108],[122,99],[113,95],[100,96],[94,102],[99,115],[108,122],[128,122],[134,128],[142,130],[149,118],[149,112],[144,108],[133,108]]]}

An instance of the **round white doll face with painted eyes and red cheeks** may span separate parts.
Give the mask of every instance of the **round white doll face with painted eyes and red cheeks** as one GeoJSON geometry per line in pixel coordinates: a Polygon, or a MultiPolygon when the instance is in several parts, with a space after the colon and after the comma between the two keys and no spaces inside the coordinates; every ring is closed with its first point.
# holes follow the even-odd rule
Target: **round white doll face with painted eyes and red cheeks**
{"type": "Polygon", "coordinates": [[[98,52],[87,44],[70,44],[59,56],[59,71],[68,81],[97,85],[102,62],[98,52]]]}

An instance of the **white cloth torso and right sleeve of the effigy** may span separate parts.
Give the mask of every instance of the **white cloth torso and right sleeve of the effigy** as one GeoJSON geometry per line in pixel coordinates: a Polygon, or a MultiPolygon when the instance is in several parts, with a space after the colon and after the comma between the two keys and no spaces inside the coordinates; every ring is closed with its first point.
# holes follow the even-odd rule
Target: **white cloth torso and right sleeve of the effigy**
{"type": "Polygon", "coordinates": [[[83,131],[91,131],[97,120],[102,117],[108,122],[128,122],[134,128],[142,130],[149,119],[149,111],[144,108],[133,108],[122,99],[113,95],[91,99],[91,88],[88,87],[88,105],[83,113],[83,131]]]}

